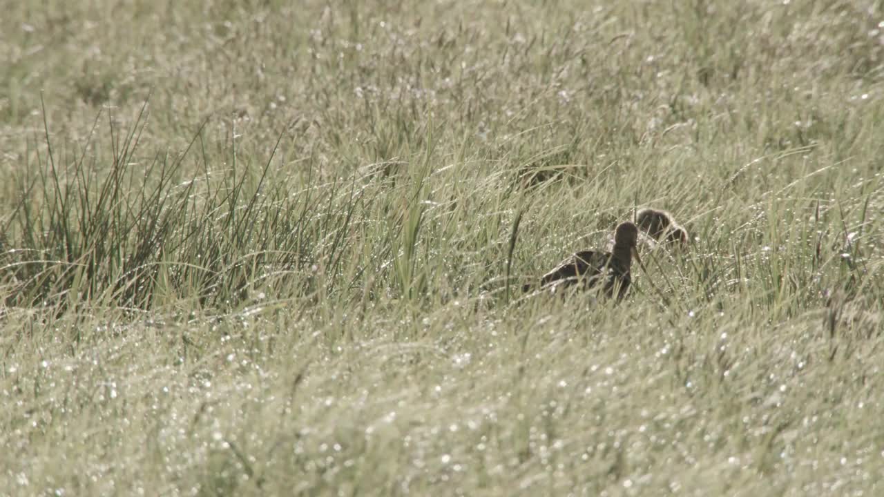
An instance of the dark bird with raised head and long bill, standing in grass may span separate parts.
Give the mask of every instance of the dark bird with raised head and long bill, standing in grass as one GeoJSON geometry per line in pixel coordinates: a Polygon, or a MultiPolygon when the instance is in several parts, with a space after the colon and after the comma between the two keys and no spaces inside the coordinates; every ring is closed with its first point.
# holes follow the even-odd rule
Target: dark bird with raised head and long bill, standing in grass
{"type": "MultiPolygon", "coordinates": [[[[629,221],[623,222],[614,230],[614,244],[610,252],[597,250],[577,252],[543,275],[540,278],[540,287],[558,289],[580,284],[581,289],[588,290],[602,281],[602,293],[606,297],[616,296],[620,300],[626,295],[632,282],[629,274],[632,257],[635,256],[641,264],[641,258],[636,250],[637,240],[636,225],[629,221]]],[[[529,291],[532,287],[533,285],[529,284],[522,289],[529,291]]]]}

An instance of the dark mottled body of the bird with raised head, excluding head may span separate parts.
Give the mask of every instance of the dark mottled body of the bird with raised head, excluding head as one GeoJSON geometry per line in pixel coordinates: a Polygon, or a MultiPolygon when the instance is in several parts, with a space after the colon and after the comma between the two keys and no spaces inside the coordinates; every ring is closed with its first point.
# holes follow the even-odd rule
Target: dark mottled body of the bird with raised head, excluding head
{"type": "Polygon", "coordinates": [[[583,250],[561,262],[540,279],[541,287],[570,287],[581,285],[584,290],[596,287],[601,281],[602,292],[621,299],[629,290],[629,257],[616,257],[608,252],[583,250]],[[616,291],[616,295],[614,292],[616,291]]]}

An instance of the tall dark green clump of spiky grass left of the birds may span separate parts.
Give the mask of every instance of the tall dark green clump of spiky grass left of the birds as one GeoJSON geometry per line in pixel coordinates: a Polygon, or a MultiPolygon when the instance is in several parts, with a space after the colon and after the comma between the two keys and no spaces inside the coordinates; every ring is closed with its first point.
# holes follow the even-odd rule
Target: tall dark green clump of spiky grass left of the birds
{"type": "Polygon", "coordinates": [[[261,234],[254,232],[258,218],[282,196],[263,185],[271,162],[256,175],[238,173],[234,159],[215,188],[209,178],[187,178],[181,164],[202,128],[178,157],[157,153],[142,162],[146,111],[147,104],[123,132],[109,115],[109,163],[99,162],[87,141],[72,164],[57,164],[44,121],[45,155],[38,151],[36,163],[27,164],[36,174],[19,178],[19,203],[7,221],[21,254],[7,267],[17,281],[7,305],[64,310],[97,302],[148,310],[163,296],[180,295],[211,306],[238,301],[255,278],[255,266],[242,257],[247,248],[268,248],[266,239],[252,241],[261,234]]]}

